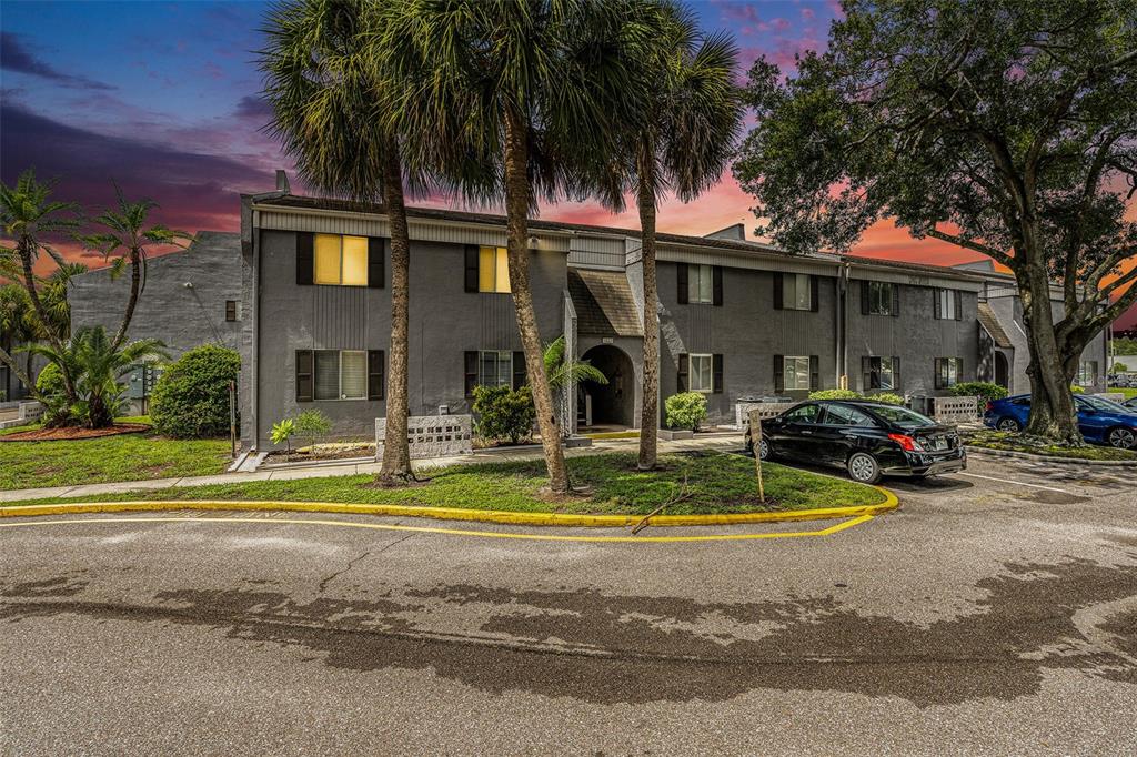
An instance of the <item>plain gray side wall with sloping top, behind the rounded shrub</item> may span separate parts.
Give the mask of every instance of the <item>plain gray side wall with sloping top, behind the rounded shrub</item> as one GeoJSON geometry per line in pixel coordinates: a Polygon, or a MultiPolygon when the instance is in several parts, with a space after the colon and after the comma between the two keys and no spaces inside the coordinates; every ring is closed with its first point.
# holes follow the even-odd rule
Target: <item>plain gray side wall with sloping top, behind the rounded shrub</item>
{"type": "MultiPolygon", "coordinates": [[[[74,282],[72,330],[103,326],[114,334],[130,298],[130,272],[111,280],[110,271],[101,268],[74,282]]],[[[188,250],[150,259],[127,339],[160,339],[175,358],[205,343],[239,349],[241,322],[225,321],[225,301],[240,299],[238,234],[199,232],[188,250]]]]}

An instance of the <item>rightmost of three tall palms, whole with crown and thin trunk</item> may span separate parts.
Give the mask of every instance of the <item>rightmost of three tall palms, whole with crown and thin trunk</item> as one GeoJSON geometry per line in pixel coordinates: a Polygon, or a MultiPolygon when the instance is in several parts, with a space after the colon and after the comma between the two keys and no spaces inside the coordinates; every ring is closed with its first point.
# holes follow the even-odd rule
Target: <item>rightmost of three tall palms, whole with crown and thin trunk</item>
{"type": "Polygon", "coordinates": [[[742,101],[733,83],[738,48],[727,34],[702,36],[690,11],[652,3],[658,36],[640,47],[641,118],[626,130],[600,181],[601,200],[622,209],[636,194],[644,268],[644,384],[638,467],[656,465],[659,427],[659,328],[656,290],[656,209],[667,191],[689,202],[717,183],[742,126],[742,101]]]}

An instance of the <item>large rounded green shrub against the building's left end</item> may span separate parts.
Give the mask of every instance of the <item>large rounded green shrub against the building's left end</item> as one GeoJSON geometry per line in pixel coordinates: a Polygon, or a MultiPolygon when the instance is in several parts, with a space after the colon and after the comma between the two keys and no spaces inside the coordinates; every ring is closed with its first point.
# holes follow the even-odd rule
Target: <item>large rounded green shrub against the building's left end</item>
{"type": "Polygon", "coordinates": [[[188,351],[169,365],[150,402],[155,429],[175,439],[219,436],[229,431],[229,382],[241,356],[217,344],[188,351]]]}

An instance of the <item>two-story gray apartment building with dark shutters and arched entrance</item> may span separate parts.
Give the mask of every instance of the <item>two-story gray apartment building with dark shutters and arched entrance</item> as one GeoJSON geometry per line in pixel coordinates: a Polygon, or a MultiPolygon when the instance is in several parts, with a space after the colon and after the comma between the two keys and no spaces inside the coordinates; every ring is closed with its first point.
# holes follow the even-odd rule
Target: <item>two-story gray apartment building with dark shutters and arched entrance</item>
{"type": "MultiPolygon", "coordinates": [[[[408,222],[409,409],[465,413],[473,386],[525,381],[505,218],[410,208],[408,222]]],[[[379,206],[242,197],[247,446],[266,447],[275,421],[309,407],[340,436],[372,433],[384,413],[389,238],[379,206]]],[[[1020,350],[1004,347],[1011,321],[989,297],[990,272],[792,256],[747,241],[741,225],[659,234],[658,318],[644,324],[638,231],[534,219],[529,242],[542,339],[564,334],[570,355],[608,377],[564,398],[573,425],[639,425],[645,327],[659,330],[661,399],[705,392],[712,423],[731,423],[740,400],[839,386],[935,396],[978,376],[1028,389],[1012,384],[1007,350],[1020,350]]],[[[1087,361],[1104,365],[1104,344],[1087,361]]]]}

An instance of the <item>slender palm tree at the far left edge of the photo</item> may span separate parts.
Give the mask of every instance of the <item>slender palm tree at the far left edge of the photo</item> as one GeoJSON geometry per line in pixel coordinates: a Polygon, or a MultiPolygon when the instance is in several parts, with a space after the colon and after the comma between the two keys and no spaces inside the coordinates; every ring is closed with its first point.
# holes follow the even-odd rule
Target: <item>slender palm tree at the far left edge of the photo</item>
{"type": "MultiPolygon", "coordinates": [[[[0,274],[5,276],[16,274],[14,277],[24,285],[32,309],[44,327],[44,336],[52,347],[61,349],[66,336],[52,327],[55,322],[36,289],[34,266],[41,250],[51,256],[58,265],[65,264],[63,256],[47,243],[47,238],[70,231],[78,225],[78,221],[65,216],[77,209],[74,203],[50,199],[52,189],[51,183],[38,181],[32,169],[20,174],[13,186],[0,183],[0,222],[3,224],[5,235],[15,243],[14,247],[0,248],[0,274]]],[[[32,386],[28,383],[31,377],[23,374],[9,352],[0,349],[0,360],[13,368],[25,385],[32,386]]],[[[69,383],[69,378],[65,378],[64,390],[69,399],[74,399],[75,388],[69,383]]]]}

